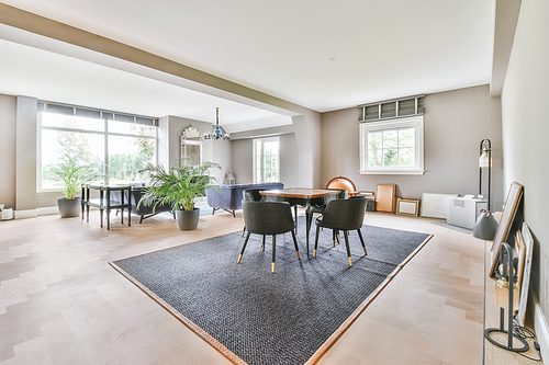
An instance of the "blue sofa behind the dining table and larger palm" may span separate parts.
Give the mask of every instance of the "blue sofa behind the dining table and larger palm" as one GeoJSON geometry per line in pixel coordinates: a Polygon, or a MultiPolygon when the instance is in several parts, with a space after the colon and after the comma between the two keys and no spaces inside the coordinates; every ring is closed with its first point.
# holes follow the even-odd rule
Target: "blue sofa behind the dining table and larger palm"
{"type": "Polygon", "coordinates": [[[260,184],[237,184],[237,185],[219,185],[220,190],[210,187],[206,190],[208,205],[213,208],[212,215],[215,210],[223,209],[233,216],[235,210],[242,209],[243,192],[246,189],[265,189],[277,190],[284,189],[283,183],[260,183],[260,184]]]}

